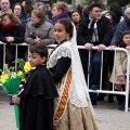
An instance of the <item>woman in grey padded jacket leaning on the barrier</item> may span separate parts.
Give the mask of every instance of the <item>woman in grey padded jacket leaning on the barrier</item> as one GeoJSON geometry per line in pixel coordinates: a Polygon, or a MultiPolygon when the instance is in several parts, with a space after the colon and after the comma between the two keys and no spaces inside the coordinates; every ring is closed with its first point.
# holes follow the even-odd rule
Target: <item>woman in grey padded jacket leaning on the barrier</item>
{"type": "Polygon", "coordinates": [[[53,25],[46,21],[43,10],[34,9],[31,11],[31,22],[26,25],[26,43],[43,43],[44,46],[52,44],[55,41],[53,34],[53,25]]]}

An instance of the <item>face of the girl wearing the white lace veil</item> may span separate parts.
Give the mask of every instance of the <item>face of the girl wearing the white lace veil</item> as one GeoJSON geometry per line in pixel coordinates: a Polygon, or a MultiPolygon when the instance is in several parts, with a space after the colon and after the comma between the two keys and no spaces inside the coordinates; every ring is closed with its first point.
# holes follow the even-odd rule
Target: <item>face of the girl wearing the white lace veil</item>
{"type": "Polygon", "coordinates": [[[64,41],[67,37],[69,36],[68,32],[66,32],[65,26],[56,23],[54,25],[54,37],[55,40],[61,43],[62,41],[64,41]]]}

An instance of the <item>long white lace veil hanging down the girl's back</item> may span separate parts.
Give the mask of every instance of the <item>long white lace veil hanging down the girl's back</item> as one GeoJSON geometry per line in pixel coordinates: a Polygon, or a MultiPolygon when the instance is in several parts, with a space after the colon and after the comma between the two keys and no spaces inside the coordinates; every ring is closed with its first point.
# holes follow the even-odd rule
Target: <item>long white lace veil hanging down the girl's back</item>
{"type": "MultiPolygon", "coordinates": [[[[73,24],[73,23],[72,23],[73,24]]],[[[88,87],[86,83],[86,79],[83,76],[82,65],[77,48],[77,31],[74,26],[73,37],[70,39],[70,48],[72,48],[72,68],[73,68],[73,84],[70,88],[70,102],[78,107],[86,107],[88,105],[88,101],[90,101],[88,87]],[[87,101],[88,100],[88,101],[87,101]]]]}

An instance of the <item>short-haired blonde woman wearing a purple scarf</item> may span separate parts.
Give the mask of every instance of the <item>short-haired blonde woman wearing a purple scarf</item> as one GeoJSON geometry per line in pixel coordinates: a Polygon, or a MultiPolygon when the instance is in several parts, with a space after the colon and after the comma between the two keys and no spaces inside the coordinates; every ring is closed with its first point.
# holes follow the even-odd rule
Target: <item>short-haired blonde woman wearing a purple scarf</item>
{"type": "Polygon", "coordinates": [[[53,25],[60,18],[67,18],[67,4],[65,2],[58,1],[52,5],[52,23],[53,25]]]}

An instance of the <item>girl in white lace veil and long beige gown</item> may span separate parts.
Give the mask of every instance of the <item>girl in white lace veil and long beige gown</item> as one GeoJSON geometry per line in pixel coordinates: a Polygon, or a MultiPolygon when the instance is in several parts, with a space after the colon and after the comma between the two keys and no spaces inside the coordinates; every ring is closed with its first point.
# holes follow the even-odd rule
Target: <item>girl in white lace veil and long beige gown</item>
{"type": "Polygon", "coordinates": [[[67,18],[54,25],[58,46],[51,52],[48,67],[60,98],[54,105],[55,130],[98,130],[81,68],[75,26],[67,18]]]}

